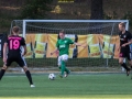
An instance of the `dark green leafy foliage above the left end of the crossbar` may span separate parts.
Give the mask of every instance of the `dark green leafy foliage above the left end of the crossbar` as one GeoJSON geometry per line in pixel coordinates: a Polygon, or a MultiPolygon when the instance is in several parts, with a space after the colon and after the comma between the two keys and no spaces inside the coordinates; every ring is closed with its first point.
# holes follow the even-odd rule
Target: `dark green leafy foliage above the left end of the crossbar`
{"type": "Polygon", "coordinates": [[[22,9],[23,19],[44,19],[47,11],[51,11],[53,0],[26,0],[22,9]]]}

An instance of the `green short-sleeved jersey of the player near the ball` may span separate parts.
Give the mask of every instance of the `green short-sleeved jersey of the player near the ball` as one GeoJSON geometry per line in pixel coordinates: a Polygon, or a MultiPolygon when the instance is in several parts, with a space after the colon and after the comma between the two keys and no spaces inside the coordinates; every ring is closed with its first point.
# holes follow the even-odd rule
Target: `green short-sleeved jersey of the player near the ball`
{"type": "Polygon", "coordinates": [[[69,44],[74,44],[70,38],[65,37],[64,40],[58,40],[56,43],[56,47],[59,51],[59,55],[69,54],[69,44]]]}

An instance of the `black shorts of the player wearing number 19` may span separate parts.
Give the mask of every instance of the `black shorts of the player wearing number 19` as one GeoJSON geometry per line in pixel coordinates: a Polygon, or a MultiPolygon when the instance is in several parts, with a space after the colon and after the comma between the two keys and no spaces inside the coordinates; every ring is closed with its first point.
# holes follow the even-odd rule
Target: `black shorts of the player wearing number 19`
{"type": "Polygon", "coordinates": [[[21,55],[19,55],[19,56],[8,56],[6,66],[10,66],[12,64],[12,62],[18,63],[19,66],[21,66],[21,67],[26,65],[24,58],[21,55]]]}

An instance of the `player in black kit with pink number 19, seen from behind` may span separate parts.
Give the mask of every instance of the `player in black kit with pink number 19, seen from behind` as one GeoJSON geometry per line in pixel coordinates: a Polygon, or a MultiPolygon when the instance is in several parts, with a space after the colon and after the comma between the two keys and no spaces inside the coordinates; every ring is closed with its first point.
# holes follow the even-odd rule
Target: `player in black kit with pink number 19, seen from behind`
{"type": "Polygon", "coordinates": [[[15,62],[19,64],[19,66],[21,66],[24,69],[26,77],[30,81],[30,86],[35,87],[32,81],[31,73],[28,69],[28,66],[25,66],[25,61],[23,58],[23,56],[26,54],[25,41],[23,37],[19,36],[19,33],[20,33],[19,26],[13,26],[12,35],[10,35],[8,37],[7,42],[3,45],[3,63],[4,63],[4,65],[3,65],[2,69],[0,70],[0,79],[3,77],[7,68],[11,65],[11,63],[15,62]],[[22,53],[21,46],[24,47],[23,55],[21,54],[22,53]],[[8,51],[8,55],[7,55],[7,51],[8,51]]]}

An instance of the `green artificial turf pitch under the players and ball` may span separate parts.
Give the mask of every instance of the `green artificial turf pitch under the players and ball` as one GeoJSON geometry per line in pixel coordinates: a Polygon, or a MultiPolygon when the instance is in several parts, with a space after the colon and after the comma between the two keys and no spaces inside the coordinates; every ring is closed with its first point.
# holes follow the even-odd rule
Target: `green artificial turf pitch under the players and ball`
{"type": "Polygon", "coordinates": [[[0,99],[132,99],[132,79],[125,74],[72,74],[55,80],[33,74],[33,81],[35,88],[24,74],[6,74],[0,99]]]}

